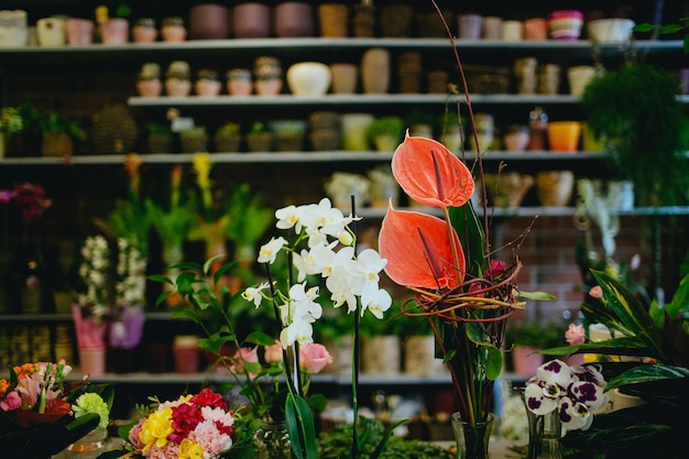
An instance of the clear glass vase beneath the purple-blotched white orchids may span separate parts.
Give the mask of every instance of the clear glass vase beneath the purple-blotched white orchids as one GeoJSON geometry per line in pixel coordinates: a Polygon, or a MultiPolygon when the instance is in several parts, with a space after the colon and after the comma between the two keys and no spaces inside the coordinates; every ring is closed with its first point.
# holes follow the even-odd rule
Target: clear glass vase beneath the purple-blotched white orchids
{"type": "Polygon", "coordinates": [[[536,415],[528,409],[524,394],[522,401],[528,418],[528,450],[526,459],[562,459],[562,424],[559,412],[536,415]]]}

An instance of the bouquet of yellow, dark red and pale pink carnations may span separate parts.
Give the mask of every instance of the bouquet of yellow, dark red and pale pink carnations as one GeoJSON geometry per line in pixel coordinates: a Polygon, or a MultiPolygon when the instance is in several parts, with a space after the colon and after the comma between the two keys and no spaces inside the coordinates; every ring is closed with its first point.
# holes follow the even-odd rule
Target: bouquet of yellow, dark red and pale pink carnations
{"type": "Polygon", "coordinates": [[[234,445],[238,417],[217,392],[203,389],[176,401],[155,402],[129,430],[127,457],[215,459],[234,445]]]}

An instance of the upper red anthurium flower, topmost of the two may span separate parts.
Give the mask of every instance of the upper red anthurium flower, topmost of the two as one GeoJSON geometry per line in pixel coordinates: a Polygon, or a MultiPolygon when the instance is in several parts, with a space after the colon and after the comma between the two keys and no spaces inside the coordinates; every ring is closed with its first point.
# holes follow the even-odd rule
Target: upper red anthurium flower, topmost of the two
{"type": "Polygon", "coordinates": [[[397,146],[392,173],[404,192],[419,204],[462,206],[473,194],[469,168],[440,142],[409,136],[397,146]]]}

